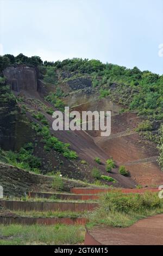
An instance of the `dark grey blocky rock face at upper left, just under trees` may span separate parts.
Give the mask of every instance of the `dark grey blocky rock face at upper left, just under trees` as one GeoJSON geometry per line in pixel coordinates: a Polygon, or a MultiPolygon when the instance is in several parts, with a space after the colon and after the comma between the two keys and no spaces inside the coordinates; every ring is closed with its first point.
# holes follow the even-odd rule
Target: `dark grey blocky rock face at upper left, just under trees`
{"type": "Polygon", "coordinates": [[[17,65],[10,66],[3,71],[7,78],[7,83],[11,85],[12,90],[37,91],[37,71],[35,68],[17,65]]]}

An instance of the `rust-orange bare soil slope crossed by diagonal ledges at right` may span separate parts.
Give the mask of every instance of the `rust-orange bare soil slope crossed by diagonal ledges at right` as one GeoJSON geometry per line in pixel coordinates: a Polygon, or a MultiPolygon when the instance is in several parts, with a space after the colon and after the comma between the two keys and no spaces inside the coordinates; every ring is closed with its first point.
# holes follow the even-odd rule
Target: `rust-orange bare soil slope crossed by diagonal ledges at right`
{"type": "Polygon", "coordinates": [[[104,149],[117,164],[124,165],[132,178],[141,185],[163,184],[163,172],[156,161],[159,155],[156,144],[143,139],[135,132],[141,119],[135,113],[114,115],[111,136],[96,137],[95,143],[104,149]]]}

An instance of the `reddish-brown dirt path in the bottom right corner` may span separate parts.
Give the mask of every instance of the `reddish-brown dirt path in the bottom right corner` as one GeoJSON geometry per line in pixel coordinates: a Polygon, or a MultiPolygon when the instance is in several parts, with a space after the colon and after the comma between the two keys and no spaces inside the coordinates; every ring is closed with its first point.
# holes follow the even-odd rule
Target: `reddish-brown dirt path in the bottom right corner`
{"type": "Polygon", "coordinates": [[[86,230],[85,245],[162,245],[163,214],[137,221],[127,228],[86,230]]]}

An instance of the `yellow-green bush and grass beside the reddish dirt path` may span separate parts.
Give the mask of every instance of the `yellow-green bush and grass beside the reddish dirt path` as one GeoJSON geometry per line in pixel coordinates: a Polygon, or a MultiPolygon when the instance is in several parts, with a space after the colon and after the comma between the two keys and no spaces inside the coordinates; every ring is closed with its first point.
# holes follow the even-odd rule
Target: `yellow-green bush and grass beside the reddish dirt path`
{"type": "Polygon", "coordinates": [[[128,227],[140,218],[161,212],[162,201],[156,193],[123,194],[112,190],[101,197],[98,208],[89,212],[88,225],[128,227]]]}

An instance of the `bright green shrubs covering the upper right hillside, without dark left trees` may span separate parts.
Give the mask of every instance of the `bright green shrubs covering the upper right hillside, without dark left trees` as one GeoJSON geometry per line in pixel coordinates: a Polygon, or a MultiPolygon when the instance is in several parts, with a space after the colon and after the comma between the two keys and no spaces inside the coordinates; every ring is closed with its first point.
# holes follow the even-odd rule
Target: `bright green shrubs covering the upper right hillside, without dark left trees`
{"type": "Polygon", "coordinates": [[[112,96],[110,86],[121,86],[116,90],[121,102],[123,90],[130,89],[123,101],[131,110],[137,110],[139,114],[146,114],[155,119],[163,119],[163,76],[153,74],[150,71],[140,71],[136,66],[127,69],[110,63],[103,64],[99,60],[66,59],[53,63],[53,68],[63,71],[89,74],[92,77],[92,86],[99,88],[101,97],[112,96]]]}

